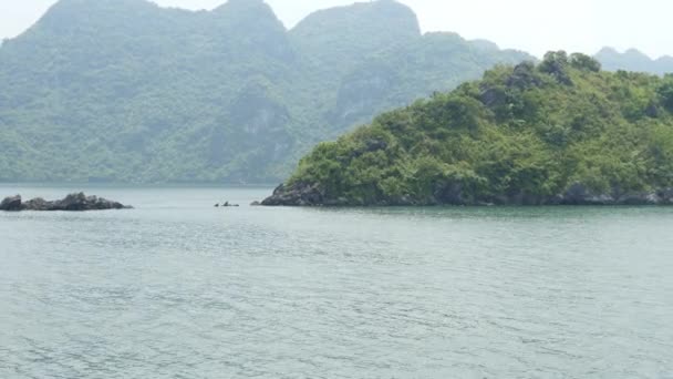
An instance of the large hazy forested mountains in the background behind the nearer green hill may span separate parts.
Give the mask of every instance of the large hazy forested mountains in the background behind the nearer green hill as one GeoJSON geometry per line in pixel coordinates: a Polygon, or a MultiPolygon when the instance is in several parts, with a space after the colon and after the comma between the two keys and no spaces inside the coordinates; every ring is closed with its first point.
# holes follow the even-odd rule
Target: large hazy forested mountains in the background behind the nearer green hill
{"type": "Polygon", "coordinates": [[[0,181],[280,181],[319,141],[527,58],[422,35],[390,0],[290,31],[261,0],[61,0],[0,48],[0,181]]]}

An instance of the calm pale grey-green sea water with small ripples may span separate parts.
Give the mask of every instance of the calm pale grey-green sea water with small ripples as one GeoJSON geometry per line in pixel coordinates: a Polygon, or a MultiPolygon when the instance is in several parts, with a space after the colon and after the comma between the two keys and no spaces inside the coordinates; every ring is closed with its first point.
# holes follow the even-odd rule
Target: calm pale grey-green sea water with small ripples
{"type": "Polygon", "coordinates": [[[0,378],[673,378],[673,208],[0,186],[0,378]],[[217,202],[240,208],[214,208],[217,202]]]}

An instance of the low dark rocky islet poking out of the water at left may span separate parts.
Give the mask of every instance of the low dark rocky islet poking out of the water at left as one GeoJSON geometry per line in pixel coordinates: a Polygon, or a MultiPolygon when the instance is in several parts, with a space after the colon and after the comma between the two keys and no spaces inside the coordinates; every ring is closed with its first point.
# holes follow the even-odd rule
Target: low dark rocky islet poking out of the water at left
{"type": "Polygon", "coordinates": [[[131,206],[97,196],[86,196],[84,193],[70,194],[65,198],[54,202],[45,201],[41,197],[33,198],[23,203],[21,196],[7,197],[0,204],[0,211],[106,211],[106,209],[128,209],[131,206]]]}

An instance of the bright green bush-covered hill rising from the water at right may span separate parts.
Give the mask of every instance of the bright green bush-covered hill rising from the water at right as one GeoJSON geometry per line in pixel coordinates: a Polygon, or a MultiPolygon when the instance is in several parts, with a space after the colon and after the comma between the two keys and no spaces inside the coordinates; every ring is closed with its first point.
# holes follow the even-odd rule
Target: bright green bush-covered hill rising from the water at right
{"type": "Polygon", "coordinates": [[[550,52],[318,145],[267,204],[661,203],[670,187],[673,75],[550,52]]]}

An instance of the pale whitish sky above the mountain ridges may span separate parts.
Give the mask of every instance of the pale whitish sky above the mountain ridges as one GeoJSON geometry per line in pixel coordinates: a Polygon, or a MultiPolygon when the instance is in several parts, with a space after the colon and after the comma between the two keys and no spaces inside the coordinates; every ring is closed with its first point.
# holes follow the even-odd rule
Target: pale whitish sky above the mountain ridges
{"type": "MultiPolygon", "coordinates": [[[[95,1],[95,0],[92,0],[95,1]]],[[[0,38],[21,33],[55,0],[0,0],[0,38]]],[[[155,0],[165,7],[213,9],[225,0],[155,0]]],[[[288,28],[310,12],[354,0],[267,0],[288,28]]],[[[401,0],[424,31],[455,31],[538,57],[548,50],[596,53],[636,48],[673,55],[671,0],[401,0]]]]}

